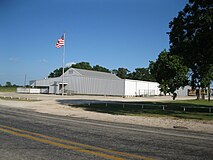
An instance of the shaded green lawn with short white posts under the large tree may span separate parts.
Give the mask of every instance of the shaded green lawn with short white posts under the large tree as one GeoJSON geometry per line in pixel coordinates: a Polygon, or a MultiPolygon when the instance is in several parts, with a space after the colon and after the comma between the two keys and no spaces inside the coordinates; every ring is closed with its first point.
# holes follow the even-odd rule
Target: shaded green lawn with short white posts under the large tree
{"type": "Polygon", "coordinates": [[[144,103],[93,103],[78,105],[88,111],[132,116],[170,116],[186,119],[213,120],[213,101],[184,100],[144,103]],[[164,110],[163,110],[164,109],[164,110]],[[185,111],[184,111],[185,110],[185,111]]]}

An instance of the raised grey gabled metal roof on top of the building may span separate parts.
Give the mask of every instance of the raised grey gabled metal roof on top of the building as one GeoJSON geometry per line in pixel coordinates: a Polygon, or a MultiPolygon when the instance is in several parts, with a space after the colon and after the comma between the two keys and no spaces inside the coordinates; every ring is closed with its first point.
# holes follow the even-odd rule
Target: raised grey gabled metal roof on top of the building
{"type": "Polygon", "coordinates": [[[91,71],[91,70],[78,69],[78,68],[70,68],[65,73],[65,76],[73,76],[73,75],[94,77],[94,78],[100,78],[100,79],[115,79],[115,80],[120,79],[119,77],[117,77],[116,75],[112,73],[91,71]]]}

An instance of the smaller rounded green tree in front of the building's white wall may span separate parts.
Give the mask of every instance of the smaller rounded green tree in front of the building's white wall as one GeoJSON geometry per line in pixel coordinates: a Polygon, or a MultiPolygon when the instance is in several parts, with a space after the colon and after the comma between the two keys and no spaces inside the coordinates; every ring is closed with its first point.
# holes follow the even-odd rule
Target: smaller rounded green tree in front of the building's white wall
{"type": "Polygon", "coordinates": [[[151,61],[149,67],[164,94],[174,93],[188,84],[188,68],[183,65],[181,58],[166,50],[159,54],[156,62],[151,61]]]}

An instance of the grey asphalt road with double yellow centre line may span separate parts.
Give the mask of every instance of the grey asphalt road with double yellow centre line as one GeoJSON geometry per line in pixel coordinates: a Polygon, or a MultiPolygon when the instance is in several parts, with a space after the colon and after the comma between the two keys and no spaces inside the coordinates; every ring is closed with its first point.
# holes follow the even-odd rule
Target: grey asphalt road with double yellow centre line
{"type": "Polygon", "coordinates": [[[0,160],[212,160],[213,135],[62,117],[0,105],[0,160]]]}

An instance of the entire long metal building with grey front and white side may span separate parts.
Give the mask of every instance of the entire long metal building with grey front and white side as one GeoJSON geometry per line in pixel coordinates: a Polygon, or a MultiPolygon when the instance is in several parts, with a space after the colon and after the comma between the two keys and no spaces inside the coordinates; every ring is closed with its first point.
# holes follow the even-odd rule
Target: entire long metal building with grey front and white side
{"type": "MultiPolygon", "coordinates": [[[[62,76],[30,81],[41,93],[61,94],[62,76]]],[[[66,94],[150,96],[159,95],[159,83],[121,79],[114,74],[70,68],[64,73],[66,94]]]]}

